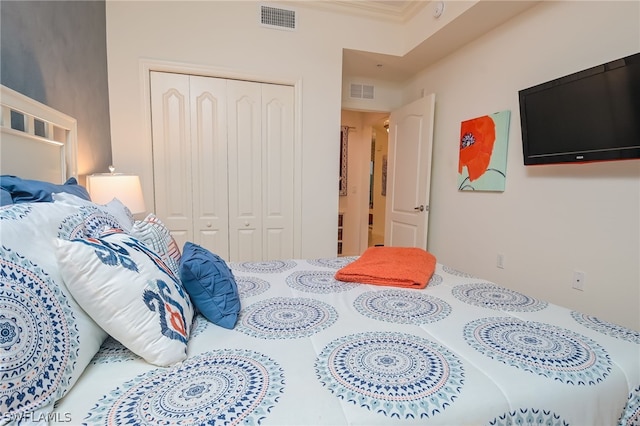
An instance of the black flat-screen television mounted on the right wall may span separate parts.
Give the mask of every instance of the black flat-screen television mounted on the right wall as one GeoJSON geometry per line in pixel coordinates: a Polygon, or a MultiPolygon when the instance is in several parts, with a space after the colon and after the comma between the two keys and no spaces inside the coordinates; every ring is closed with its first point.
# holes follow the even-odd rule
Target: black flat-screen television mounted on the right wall
{"type": "Polygon", "coordinates": [[[518,94],[525,165],[640,158],[640,53],[518,94]]]}

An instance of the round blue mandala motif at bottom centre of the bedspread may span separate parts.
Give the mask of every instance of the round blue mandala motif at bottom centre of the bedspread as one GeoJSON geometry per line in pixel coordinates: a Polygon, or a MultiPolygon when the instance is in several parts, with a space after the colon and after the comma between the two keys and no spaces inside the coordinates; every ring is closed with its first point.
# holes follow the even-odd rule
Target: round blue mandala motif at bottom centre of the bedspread
{"type": "Polygon", "coordinates": [[[446,348],[402,333],[361,333],[327,345],[320,381],[341,399],[397,418],[424,418],[453,404],[464,370],[446,348]]]}

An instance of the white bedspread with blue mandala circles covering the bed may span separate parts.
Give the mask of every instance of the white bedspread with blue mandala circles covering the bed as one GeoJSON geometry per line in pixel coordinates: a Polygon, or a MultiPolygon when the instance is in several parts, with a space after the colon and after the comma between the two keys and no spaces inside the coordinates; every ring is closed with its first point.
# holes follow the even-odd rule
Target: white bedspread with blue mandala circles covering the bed
{"type": "Polygon", "coordinates": [[[187,359],[167,368],[108,339],[56,412],[87,425],[638,424],[637,331],[443,265],[424,290],[336,281],[353,260],[230,263],[235,328],[197,315],[187,359]]]}

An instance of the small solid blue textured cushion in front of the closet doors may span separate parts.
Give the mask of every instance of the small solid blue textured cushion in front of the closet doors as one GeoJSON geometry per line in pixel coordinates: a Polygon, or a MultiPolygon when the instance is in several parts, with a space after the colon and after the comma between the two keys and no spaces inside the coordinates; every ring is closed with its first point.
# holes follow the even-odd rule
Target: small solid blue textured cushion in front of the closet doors
{"type": "Polygon", "coordinates": [[[205,318],[220,327],[235,327],[240,312],[238,285],[222,258],[187,241],[180,259],[180,279],[205,318]]]}

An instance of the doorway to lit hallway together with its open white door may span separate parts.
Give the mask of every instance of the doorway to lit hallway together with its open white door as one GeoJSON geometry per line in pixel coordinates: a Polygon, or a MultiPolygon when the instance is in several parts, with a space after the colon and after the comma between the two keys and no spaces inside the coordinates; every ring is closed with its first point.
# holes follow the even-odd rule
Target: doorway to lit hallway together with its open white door
{"type": "Polygon", "coordinates": [[[434,106],[430,94],[391,113],[342,110],[341,124],[352,129],[338,212],[342,255],[380,244],[426,249],[434,106]]]}

